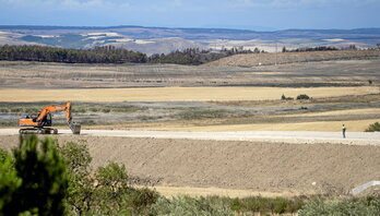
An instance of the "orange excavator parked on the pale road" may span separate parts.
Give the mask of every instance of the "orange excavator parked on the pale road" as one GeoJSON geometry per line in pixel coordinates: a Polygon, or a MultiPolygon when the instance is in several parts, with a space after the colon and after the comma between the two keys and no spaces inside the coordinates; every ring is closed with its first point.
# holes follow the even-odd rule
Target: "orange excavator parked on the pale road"
{"type": "Polygon", "coordinates": [[[20,127],[29,127],[20,129],[20,134],[57,134],[58,130],[48,128],[51,127],[51,112],[66,111],[66,119],[73,134],[81,133],[81,124],[72,121],[71,118],[71,103],[66,103],[64,106],[47,106],[37,116],[26,116],[19,120],[20,127]]]}

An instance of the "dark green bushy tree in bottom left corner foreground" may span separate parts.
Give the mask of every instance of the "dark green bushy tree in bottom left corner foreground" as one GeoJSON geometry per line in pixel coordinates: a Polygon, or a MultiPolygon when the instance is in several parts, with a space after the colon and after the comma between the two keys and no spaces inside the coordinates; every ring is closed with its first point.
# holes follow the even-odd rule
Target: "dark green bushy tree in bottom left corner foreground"
{"type": "Polygon", "coordinates": [[[56,146],[52,139],[21,136],[19,148],[13,151],[15,172],[8,168],[14,192],[3,206],[4,215],[63,215],[68,178],[66,163],[56,146]]]}

